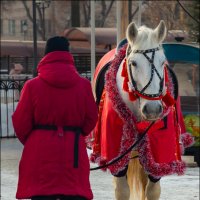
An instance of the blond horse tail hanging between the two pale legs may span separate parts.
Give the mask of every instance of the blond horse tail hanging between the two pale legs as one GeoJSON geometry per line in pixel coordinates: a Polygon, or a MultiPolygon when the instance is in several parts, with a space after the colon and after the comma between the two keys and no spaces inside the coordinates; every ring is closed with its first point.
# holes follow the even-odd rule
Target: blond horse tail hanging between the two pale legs
{"type": "MultiPolygon", "coordinates": [[[[137,152],[133,152],[132,155],[137,155],[137,152]]],[[[129,161],[127,178],[130,187],[130,199],[145,200],[145,188],[148,178],[138,158],[129,161]]]]}

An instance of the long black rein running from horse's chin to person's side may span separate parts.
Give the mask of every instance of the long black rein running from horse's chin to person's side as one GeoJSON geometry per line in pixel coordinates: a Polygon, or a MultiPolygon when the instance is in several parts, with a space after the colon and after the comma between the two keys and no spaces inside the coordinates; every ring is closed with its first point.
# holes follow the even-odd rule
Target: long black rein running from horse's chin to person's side
{"type": "Polygon", "coordinates": [[[126,154],[128,154],[130,151],[133,150],[133,148],[135,148],[138,145],[138,143],[144,138],[144,136],[149,131],[149,129],[153,126],[154,123],[155,123],[155,121],[151,122],[151,124],[144,131],[144,133],[141,134],[141,136],[138,138],[138,140],[132,146],[130,146],[123,154],[121,154],[120,156],[116,157],[111,162],[108,162],[105,165],[101,165],[101,166],[98,166],[98,167],[90,168],[90,171],[94,171],[94,170],[98,170],[98,169],[103,169],[103,168],[109,167],[110,165],[113,165],[114,163],[116,163],[119,160],[121,160],[126,154]]]}

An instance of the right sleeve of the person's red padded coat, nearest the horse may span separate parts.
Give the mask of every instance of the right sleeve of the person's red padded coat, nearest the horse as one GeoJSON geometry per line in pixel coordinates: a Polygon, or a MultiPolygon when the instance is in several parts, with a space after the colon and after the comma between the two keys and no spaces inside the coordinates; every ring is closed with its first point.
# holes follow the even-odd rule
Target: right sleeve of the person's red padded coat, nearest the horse
{"type": "Polygon", "coordinates": [[[89,133],[94,129],[98,118],[98,108],[92,94],[91,84],[89,82],[86,84],[86,93],[86,114],[83,125],[83,134],[89,135],[89,133]]]}

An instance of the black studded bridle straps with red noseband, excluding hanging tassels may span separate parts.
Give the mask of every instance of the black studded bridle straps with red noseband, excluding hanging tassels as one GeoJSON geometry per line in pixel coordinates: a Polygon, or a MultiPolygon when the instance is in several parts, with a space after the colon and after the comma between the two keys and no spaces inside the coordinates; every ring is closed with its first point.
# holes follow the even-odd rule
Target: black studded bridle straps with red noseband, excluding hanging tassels
{"type": "Polygon", "coordinates": [[[165,85],[164,83],[164,77],[162,78],[161,75],[159,74],[158,70],[156,69],[155,65],[154,65],[154,57],[155,57],[155,52],[160,50],[161,47],[157,47],[157,48],[153,48],[153,49],[147,49],[147,50],[135,50],[133,51],[133,53],[140,53],[143,54],[144,57],[149,61],[150,65],[151,65],[151,77],[149,79],[149,82],[146,84],[146,86],[144,86],[143,89],[139,90],[137,88],[137,83],[133,78],[133,74],[132,74],[132,67],[131,64],[128,65],[128,70],[129,70],[129,75],[130,75],[130,81],[129,84],[132,88],[132,91],[134,91],[135,95],[145,98],[145,99],[151,99],[151,100],[159,100],[162,99],[163,97],[163,87],[165,85]],[[152,56],[151,58],[147,55],[147,53],[151,53],[152,52],[152,56]],[[149,87],[149,85],[151,84],[154,75],[157,75],[158,78],[160,79],[160,88],[159,88],[159,92],[157,94],[147,94],[145,93],[145,90],[149,87]]]}

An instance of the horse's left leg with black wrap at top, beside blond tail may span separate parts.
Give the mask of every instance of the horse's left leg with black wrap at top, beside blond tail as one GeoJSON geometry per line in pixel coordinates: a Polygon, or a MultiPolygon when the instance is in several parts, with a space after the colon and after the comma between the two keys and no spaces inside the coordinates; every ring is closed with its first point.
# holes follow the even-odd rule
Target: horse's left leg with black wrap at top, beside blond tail
{"type": "Polygon", "coordinates": [[[114,176],[116,200],[129,200],[130,198],[130,189],[126,176],[127,168],[128,167],[114,176]]]}

